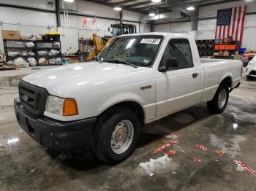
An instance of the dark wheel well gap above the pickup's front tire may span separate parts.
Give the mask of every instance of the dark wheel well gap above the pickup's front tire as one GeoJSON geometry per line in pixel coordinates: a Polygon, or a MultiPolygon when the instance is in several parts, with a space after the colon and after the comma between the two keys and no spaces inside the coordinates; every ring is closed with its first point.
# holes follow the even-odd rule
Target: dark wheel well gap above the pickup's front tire
{"type": "Polygon", "coordinates": [[[135,101],[123,101],[121,103],[118,103],[118,104],[115,104],[113,106],[110,106],[110,108],[108,108],[107,110],[102,112],[102,114],[107,112],[110,109],[115,108],[115,107],[125,107],[127,109],[130,109],[138,117],[138,120],[140,121],[140,124],[141,125],[144,124],[144,111],[143,111],[143,107],[140,106],[140,104],[138,104],[137,102],[135,102],[135,101]]]}

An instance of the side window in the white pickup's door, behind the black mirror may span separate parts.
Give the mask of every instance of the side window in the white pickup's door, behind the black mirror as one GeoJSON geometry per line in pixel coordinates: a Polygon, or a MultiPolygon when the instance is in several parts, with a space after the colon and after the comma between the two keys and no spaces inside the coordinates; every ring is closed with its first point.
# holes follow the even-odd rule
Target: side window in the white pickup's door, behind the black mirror
{"type": "Polygon", "coordinates": [[[166,63],[168,59],[176,59],[178,62],[178,66],[172,70],[192,68],[193,59],[188,39],[170,39],[160,65],[166,63]]]}

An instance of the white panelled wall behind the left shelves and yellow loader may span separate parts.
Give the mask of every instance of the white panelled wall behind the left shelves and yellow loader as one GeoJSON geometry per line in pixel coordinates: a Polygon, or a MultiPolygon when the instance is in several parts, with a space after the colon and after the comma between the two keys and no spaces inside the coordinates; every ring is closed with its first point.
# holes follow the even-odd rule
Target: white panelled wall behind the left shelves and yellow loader
{"type": "MultiPolygon", "coordinates": [[[[26,7],[55,10],[55,0],[53,4],[48,4],[46,0],[0,0],[1,4],[15,4],[26,7]]],[[[112,7],[94,4],[89,1],[78,0],[78,13],[84,15],[96,15],[97,17],[109,17],[118,19],[119,12],[112,7]]],[[[145,15],[138,12],[123,11],[124,23],[132,23],[137,27],[137,32],[150,31],[150,25],[139,24],[145,15]],[[135,23],[137,22],[137,23],[135,23]]],[[[61,31],[62,51],[67,51],[72,47],[72,52],[78,50],[78,38],[88,38],[96,33],[98,36],[110,35],[108,28],[110,24],[118,23],[118,20],[97,18],[97,23],[92,23],[92,17],[86,17],[87,24],[83,28],[83,17],[69,15],[69,26],[64,28],[64,16],[61,14],[61,28],[56,28],[55,13],[38,12],[28,9],[16,9],[10,7],[0,7],[0,30],[18,30],[21,35],[45,34],[48,31],[61,31]]],[[[0,50],[4,50],[2,36],[0,32],[0,50]]]]}

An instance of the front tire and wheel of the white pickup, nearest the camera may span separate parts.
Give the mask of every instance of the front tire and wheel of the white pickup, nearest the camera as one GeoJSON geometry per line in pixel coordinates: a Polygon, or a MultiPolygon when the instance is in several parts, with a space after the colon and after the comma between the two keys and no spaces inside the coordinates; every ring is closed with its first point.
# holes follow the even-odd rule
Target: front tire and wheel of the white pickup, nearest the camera
{"type": "Polygon", "coordinates": [[[110,165],[125,160],[135,149],[140,127],[138,117],[131,110],[124,107],[108,110],[99,117],[94,129],[92,146],[95,155],[110,165]],[[113,139],[114,137],[115,139],[113,139]],[[121,141],[121,144],[116,140],[121,141]],[[120,149],[118,149],[119,144],[121,145],[120,149]]]}

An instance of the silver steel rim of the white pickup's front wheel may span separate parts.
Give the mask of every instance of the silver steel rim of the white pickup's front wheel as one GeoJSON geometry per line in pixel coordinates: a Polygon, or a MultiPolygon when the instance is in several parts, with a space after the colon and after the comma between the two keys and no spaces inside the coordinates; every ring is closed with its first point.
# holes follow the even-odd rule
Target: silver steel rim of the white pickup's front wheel
{"type": "Polygon", "coordinates": [[[110,141],[113,152],[116,154],[126,152],[132,144],[133,136],[134,128],[131,121],[122,120],[121,122],[118,122],[116,128],[113,130],[110,141]]]}

